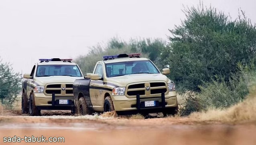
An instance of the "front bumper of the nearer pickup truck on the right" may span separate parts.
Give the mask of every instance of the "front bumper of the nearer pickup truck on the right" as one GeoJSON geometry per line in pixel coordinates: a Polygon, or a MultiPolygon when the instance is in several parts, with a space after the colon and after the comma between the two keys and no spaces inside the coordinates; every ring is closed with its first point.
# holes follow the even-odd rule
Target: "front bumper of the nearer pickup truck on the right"
{"type": "Polygon", "coordinates": [[[115,111],[138,111],[138,110],[157,110],[177,106],[177,96],[175,91],[169,91],[167,94],[162,93],[159,97],[139,97],[127,98],[125,96],[112,96],[115,111]],[[143,107],[142,101],[157,101],[155,107],[143,107]],[[165,102],[165,103],[162,103],[165,102]]]}

